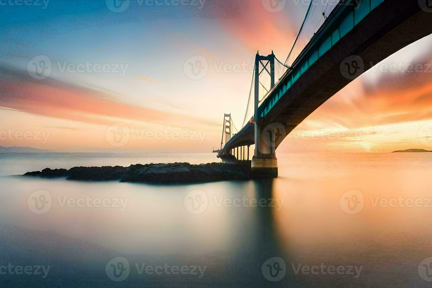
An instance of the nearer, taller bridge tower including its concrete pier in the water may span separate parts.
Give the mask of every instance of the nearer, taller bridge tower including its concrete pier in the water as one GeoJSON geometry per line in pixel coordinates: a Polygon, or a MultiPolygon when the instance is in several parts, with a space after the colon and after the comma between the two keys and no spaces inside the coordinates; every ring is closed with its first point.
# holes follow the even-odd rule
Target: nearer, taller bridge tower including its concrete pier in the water
{"type": "Polygon", "coordinates": [[[261,56],[259,52],[255,57],[255,97],[254,97],[254,128],[255,128],[255,151],[252,157],[251,173],[254,177],[277,177],[277,159],[275,152],[275,133],[274,127],[269,125],[265,128],[261,125],[260,115],[258,115],[259,100],[259,75],[260,68],[266,70],[270,75],[270,89],[275,85],[273,51],[268,56],[261,56]],[[263,61],[267,61],[264,65],[263,61]],[[267,64],[270,63],[270,71],[267,64]]]}

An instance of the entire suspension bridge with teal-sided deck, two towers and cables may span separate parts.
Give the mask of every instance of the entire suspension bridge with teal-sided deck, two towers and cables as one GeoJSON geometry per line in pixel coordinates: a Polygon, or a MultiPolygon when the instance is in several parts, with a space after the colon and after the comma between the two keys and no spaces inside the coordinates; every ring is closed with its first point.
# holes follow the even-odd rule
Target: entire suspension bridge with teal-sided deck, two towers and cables
{"type": "Polygon", "coordinates": [[[276,149],[299,123],[375,63],[432,34],[431,2],[312,0],[285,62],[273,51],[256,54],[242,128],[234,133],[225,114],[221,147],[213,152],[248,161],[245,150],[254,145],[252,174],[277,177],[276,149]],[[282,66],[277,81],[275,62],[282,66]]]}

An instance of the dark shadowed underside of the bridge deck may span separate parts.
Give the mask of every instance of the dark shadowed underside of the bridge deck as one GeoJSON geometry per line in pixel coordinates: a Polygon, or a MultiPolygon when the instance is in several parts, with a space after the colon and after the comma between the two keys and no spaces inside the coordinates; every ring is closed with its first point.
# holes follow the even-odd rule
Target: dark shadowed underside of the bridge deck
{"type": "MultiPolygon", "coordinates": [[[[355,79],[347,79],[341,73],[340,64],[346,57],[361,57],[364,71],[367,71],[374,64],[430,34],[432,13],[422,11],[418,1],[385,0],[312,64],[258,123],[261,127],[281,123],[286,129],[284,134],[288,135],[309,114],[355,79]]],[[[293,70],[301,59],[296,63],[293,70]]],[[[271,97],[272,94],[267,98],[271,97]]],[[[275,148],[282,141],[280,137],[275,148]]],[[[254,130],[253,125],[248,124],[226,143],[219,155],[235,147],[252,144],[254,130]]]]}

